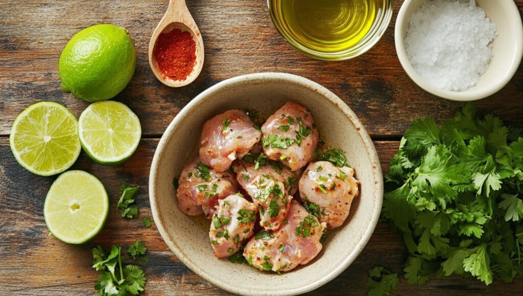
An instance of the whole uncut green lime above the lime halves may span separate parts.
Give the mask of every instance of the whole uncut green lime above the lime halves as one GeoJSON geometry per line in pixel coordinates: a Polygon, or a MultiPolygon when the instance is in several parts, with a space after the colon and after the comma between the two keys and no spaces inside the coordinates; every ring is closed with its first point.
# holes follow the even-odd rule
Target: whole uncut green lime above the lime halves
{"type": "Polygon", "coordinates": [[[62,90],[87,102],[109,100],[121,92],[136,68],[128,31],[101,24],[77,32],[60,56],[62,90]]]}

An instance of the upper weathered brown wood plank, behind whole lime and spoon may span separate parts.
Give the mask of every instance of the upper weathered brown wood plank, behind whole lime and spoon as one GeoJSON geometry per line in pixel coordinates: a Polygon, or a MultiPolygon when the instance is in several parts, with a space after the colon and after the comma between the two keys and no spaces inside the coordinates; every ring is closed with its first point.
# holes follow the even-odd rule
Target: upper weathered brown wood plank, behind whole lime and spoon
{"type": "MultiPolygon", "coordinates": [[[[207,87],[236,75],[274,71],[302,75],[340,96],[372,135],[401,135],[417,117],[451,117],[462,104],[419,89],[397,60],[391,25],[369,52],[344,62],[324,62],[291,49],[278,35],[265,0],[194,0],[189,9],[199,24],[206,60],[199,78],[170,89],[158,82],[147,62],[149,38],[166,7],[165,0],[13,1],[0,3],[0,135],[7,135],[25,107],[42,100],[65,104],[78,116],[87,104],[60,90],[58,60],[67,40],[98,23],[126,27],[138,52],[131,83],[116,100],[142,119],[144,135],[161,135],[179,110],[207,87]]],[[[516,0],[523,12],[523,0],[516,0]]],[[[523,71],[490,98],[476,103],[511,125],[523,125],[523,71]]]]}

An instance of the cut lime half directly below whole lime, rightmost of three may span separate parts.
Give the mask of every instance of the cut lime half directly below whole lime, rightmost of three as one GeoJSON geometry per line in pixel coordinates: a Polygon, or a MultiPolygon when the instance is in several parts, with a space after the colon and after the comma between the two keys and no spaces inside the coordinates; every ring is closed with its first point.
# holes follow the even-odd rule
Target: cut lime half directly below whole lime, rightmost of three
{"type": "Polygon", "coordinates": [[[89,105],[78,120],[78,136],[87,155],[102,165],[120,165],[140,143],[140,120],[115,101],[89,105]]]}

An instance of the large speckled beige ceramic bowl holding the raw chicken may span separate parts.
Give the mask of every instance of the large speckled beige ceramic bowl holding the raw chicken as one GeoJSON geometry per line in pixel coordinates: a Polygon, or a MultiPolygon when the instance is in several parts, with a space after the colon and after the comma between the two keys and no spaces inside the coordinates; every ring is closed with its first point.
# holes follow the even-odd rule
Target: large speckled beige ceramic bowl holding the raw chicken
{"type": "Polygon", "coordinates": [[[354,112],[325,87],[284,73],[238,76],[194,98],[174,118],[158,143],[149,186],[154,221],[167,246],[203,279],[237,294],[298,294],[332,280],[367,244],[383,199],[378,155],[354,112]],[[348,221],[328,236],[316,259],[279,276],[214,258],[208,235],[210,221],[178,210],[173,179],[196,154],[201,127],[207,119],[232,108],[257,109],[262,116],[268,116],[289,100],[310,109],[328,146],[345,151],[361,182],[361,194],[353,201],[348,221]]]}

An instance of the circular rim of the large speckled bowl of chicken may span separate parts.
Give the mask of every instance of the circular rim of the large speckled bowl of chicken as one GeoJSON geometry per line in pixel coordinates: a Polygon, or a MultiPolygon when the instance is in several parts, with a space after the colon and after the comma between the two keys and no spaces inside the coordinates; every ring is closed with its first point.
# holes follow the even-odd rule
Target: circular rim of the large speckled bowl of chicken
{"type": "MultiPolygon", "coordinates": [[[[204,90],[199,95],[197,95],[193,100],[191,100],[181,111],[178,113],[178,115],[175,116],[175,118],[172,120],[172,122],[168,125],[167,129],[165,130],[164,134],[162,135],[162,138],[160,139],[160,142],[158,142],[158,146],[156,147],[156,151],[154,153],[152,165],[151,165],[151,171],[149,174],[149,200],[151,203],[151,212],[153,215],[154,222],[156,224],[156,227],[158,229],[158,232],[160,232],[160,235],[164,239],[164,242],[167,244],[169,249],[178,257],[178,259],[189,269],[191,269],[194,273],[196,273],[198,276],[203,278],[204,280],[212,283],[214,286],[217,286],[225,291],[229,291],[231,293],[237,293],[237,294],[245,294],[245,295],[254,295],[259,294],[261,291],[252,291],[241,287],[233,287],[225,285],[219,281],[214,280],[214,278],[208,273],[207,271],[203,270],[202,268],[192,264],[191,260],[184,254],[183,250],[181,250],[174,242],[170,239],[166,228],[164,227],[163,218],[158,212],[158,205],[156,202],[156,176],[157,176],[157,169],[160,166],[160,159],[161,155],[164,152],[164,149],[166,145],[168,144],[168,141],[170,140],[170,137],[172,136],[173,131],[175,130],[176,126],[181,122],[182,118],[187,116],[192,108],[194,108],[199,101],[201,101],[203,98],[212,95],[214,92],[219,91],[223,87],[231,86],[235,84],[242,84],[246,81],[261,81],[266,82],[267,80],[272,81],[283,81],[283,82],[291,82],[300,85],[301,87],[306,87],[312,91],[315,91],[326,98],[326,100],[331,101],[334,103],[340,111],[342,111],[345,116],[351,120],[351,122],[356,127],[358,134],[360,138],[363,141],[363,144],[367,148],[367,153],[369,154],[371,163],[372,163],[372,176],[374,179],[374,192],[373,196],[376,199],[376,202],[374,203],[374,209],[372,209],[372,214],[370,217],[370,222],[367,226],[367,229],[365,233],[363,233],[361,239],[355,246],[355,248],[351,251],[349,256],[345,258],[342,264],[337,266],[332,271],[328,272],[325,277],[323,277],[320,280],[317,280],[315,282],[311,282],[307,284],[306,286],[302,286],[300,288],[295,288],[291,290],[280,290],[277,292],[271,291],[271,295],[289,295],[289,294],[300,294],[312,291],[316,288],[319,288],[323,286],[323,284],[331,281],[336,276],[338,276],[340,273],[342,273],[355,259],[356,257],[361,253],[363,248],[367,245],[370,237],[372,236],[374,229],[376,228],[376,225],[378,223],[378,219],[381,213],[381,206],[383,201],[383,176],[381,171],[381,165],[380,160],[378,158],[378,153],[376,151],[376,148],[374,147],[374,144],[367,133],[365,127],[361,124],[356,114],[350,109],[350,107],[345,104],[338,96],[336,96],[331,91],[327,90],[324,86],[313,82],[309,79],[303,78],[298,75],[294,74],[288,74],[288,73],[279,73],[279,72],[265,72],[265,73],[254,73],[254,74],[246,74],[241,76],[236,76],[234,78],[226,79],[224,81],[221,81],[211,87],[209,87],[207,90],[204,90]]],[[[261,292],[263,293],[263,292],[261,292]]],[[[267,293],[265,293],[267,294],[267,293]]]]}

